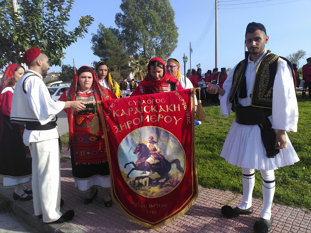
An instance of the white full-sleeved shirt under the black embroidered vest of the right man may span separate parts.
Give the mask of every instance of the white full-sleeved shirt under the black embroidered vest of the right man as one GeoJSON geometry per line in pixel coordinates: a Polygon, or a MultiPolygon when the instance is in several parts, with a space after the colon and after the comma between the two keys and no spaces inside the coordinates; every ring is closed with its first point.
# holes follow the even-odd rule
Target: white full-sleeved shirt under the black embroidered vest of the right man
{"type": "MultiPolygon", "coordinates": [[[[239,103],[244,107],[251,105],[250,94],[253,92],[256,71],[260,60],[266,54],[267,50],[264,51],[255,63],[250,60],[250,56],[248,57],[248,63],[245,70],[247,97],[243,99],[238,98],[239,103]]],[[[225,80],[223,86],[223,89],[225,90],[224,96],[219,95],[221,114],[226,117],[230,115],[232,106],[232,103],[229,102],[229,98],[232,88],[233,74],[236,67],[237,66],[229,72],[228,77],[225,80]]],[[[240,90],[238,90],[237,94],[239,96],[240,90]]],[[[269,119],[273,129],[297,132],[298,105],[293,75],[291,68],[282,58],[279,59],[276,70],[276,77],[273,85],[272,115],[269,116],[269,119]]]]}

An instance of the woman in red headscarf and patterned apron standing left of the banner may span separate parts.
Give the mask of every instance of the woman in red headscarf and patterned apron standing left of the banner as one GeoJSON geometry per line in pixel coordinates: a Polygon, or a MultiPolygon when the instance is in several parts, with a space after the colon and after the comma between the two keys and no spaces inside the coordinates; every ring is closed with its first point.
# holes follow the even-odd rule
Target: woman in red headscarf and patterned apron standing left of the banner
{"type": "MultiPolygon", "coordinates": [[[[82,192],[88,191],[85,204],[97,196],[98,187],[104,188],[104,205],[112,205],[108,193],[110,189],[110,172],[107,161],[103,128],[99,121],[99,131],[90,133],[90,125],[97,107],[93,102],[104,99],[115,99],[114,93],[100,85],[90,67],[80,67],[76,72],[68,91],[59,100],[80,100],[86,109],[80,112],[67,110],[69,123],[69,145],[71,152],[72,175],[75,187],[82,192]]],[[[66,111],[65,110],[65,111],[66,111]]]]}

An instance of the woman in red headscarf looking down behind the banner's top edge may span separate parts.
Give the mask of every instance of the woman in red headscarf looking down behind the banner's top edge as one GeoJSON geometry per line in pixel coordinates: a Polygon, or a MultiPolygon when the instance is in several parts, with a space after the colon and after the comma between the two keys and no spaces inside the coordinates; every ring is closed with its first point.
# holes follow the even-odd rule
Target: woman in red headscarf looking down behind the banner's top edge
{"type": "Polygon", "coordinates": [[[166,73],[165,63],[155,57],[148,63],[148,72],[143,81],[133,91],[131,96],[154,94],[184,89],[175,77],[166,73]]]}

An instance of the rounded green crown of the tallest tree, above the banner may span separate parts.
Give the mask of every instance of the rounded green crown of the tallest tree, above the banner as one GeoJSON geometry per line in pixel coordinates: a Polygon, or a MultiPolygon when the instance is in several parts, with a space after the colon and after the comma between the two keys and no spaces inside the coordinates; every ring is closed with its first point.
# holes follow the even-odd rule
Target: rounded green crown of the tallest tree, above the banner
{"type": "Polygon", "coordinates": [[[177,47],[178,28],[169,0],[122,0],[116,24],[130,55],[169,58],[177,47]]]}

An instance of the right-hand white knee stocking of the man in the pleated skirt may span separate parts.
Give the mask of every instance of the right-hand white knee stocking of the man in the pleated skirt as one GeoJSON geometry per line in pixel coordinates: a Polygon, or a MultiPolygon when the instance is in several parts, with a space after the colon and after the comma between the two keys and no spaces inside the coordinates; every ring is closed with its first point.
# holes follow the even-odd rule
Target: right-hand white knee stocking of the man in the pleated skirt
{"type": "Polygon", "coordinates": [[[261,210],[261,217],[264,219],[271,218],[271,206],[276,189],[276,180],[274,170],[260,170],[262,176],[262,196],[263,206],[261,210]]]}

